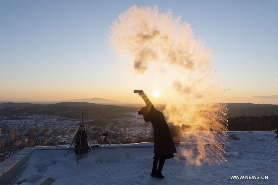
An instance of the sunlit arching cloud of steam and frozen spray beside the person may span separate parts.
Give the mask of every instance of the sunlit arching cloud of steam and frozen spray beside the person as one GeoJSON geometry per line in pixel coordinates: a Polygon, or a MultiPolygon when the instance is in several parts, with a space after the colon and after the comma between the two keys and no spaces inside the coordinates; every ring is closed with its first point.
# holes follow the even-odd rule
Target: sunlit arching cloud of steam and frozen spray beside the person
{"type": "Polygon", "coordinates": [[[171,84],[164,85],[175,92],[164,110],[167,121],[201,143],[195,151],[184,149],[186,164],[225,161],[227,108],[225,104],[206,103],[225,92],[211,70],[211,50],[194,36],[190,24],[181,23],[181,17],[173,18],[170,10],[132,6],[119,14],[110,28],[112,47],[129,54],[137,73],[144,74],[151,63],[165,69],[171,84]]]}

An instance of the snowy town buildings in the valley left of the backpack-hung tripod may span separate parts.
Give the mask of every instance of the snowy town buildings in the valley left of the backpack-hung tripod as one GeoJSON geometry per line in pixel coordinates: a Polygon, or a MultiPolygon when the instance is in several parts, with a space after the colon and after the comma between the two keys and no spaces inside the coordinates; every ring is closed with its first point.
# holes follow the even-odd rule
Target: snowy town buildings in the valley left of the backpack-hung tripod
{"type": "Polygon", "coordinates": [[[0,121],[1,161],[24,147],[66,144],[79,122],[50,116],[16,117],[14,120],[1,117],[0,121]]]}

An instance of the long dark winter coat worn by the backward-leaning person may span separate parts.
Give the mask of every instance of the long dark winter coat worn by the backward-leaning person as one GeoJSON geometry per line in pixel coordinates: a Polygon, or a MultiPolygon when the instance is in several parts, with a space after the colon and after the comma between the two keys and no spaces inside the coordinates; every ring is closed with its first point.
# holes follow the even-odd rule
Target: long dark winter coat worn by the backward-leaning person
{"type": "Polygon", "coordinates": [[[144,120],[152,123],[154,130],[154,154],[174,157],[173,153],[177,153],[177,150],[162,112],[156,110],[152,104],[142,107],[140,111],[138,112],[143,114],[144,120]]]}

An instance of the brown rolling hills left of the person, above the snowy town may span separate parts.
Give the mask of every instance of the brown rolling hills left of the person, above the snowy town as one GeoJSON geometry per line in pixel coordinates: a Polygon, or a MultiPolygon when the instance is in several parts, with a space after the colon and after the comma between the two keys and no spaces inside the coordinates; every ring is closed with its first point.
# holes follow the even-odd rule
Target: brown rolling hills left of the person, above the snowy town
{"type": "Polygon", "coordinates": [[[136,112],[139,108],[116,105],[100,105],[87,102],[61,102],[56,104],[2,103],[0,116],[52,115],[79,119],[82,112],[86,119],[119,119],[131,117],[123,114],[136,112]],[[19,109],[20,108],[20,109],[19,109]]]}

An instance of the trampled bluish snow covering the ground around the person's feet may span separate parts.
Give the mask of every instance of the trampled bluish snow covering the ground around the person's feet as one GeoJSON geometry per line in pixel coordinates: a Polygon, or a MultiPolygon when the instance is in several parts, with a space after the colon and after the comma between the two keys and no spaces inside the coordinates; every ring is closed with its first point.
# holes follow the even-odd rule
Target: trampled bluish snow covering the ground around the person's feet
{"type": "MultiPolygon", "coordinates": [[[[225,146],[227,163],[201,166],[186,166],[179,156],[184,147],[177,147],[180,153],[165,161],[162,174],[164,179],[152,178],[153,148],[97,148],[96,155],[86,153],[80,164],[76,156],[64,146],[35,147],[26,162],[27,167],[17,179],[22,185],[41,184],[53,178],[54,184],[277,184],[278,182],[278,139],[270,132],[229,132],[240,140],[229,140],[225,146]],[[49,148],[41,150],[41,148],[49,148]],[[51,149],[50,149],[51,148],[51,149]],[[262,175],[268,179],[232,180],[231,175],[262,175]]],[[[135,144],[150,146],[151,144],[135,144]]],[[[130,145],[124,145],[128,147],[130,145]]]]}

